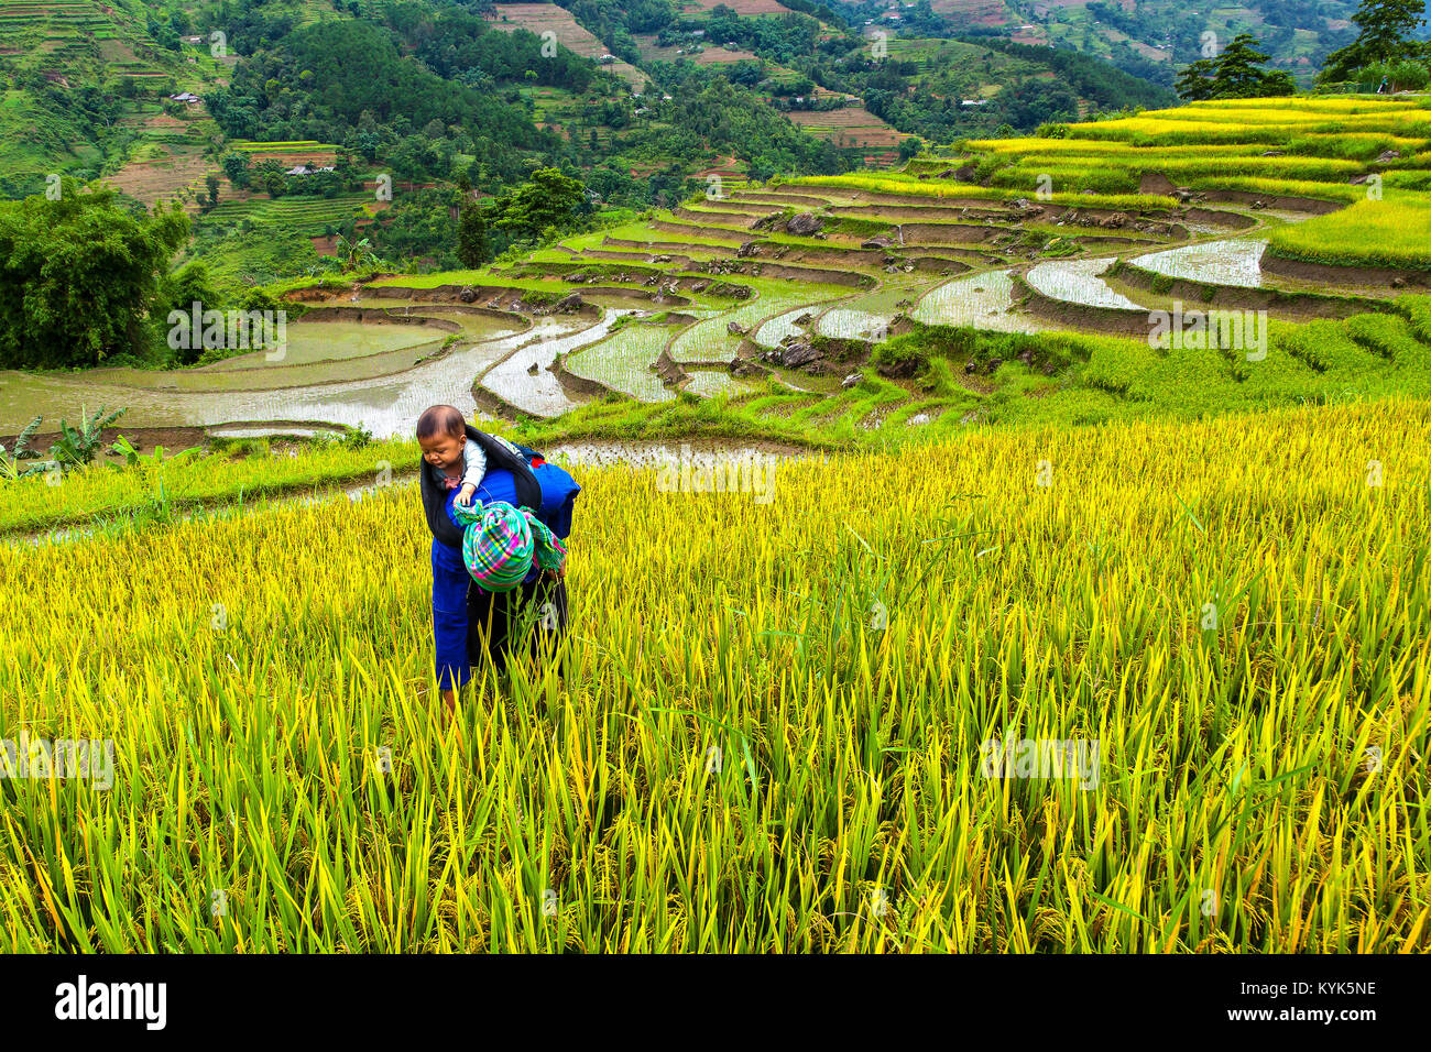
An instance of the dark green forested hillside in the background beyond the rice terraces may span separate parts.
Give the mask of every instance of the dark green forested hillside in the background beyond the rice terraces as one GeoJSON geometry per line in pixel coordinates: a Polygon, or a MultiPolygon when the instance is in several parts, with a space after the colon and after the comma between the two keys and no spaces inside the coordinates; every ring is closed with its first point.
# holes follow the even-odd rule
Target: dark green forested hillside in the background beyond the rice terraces
{"type": "MultiPolygon", "coordinates": [[[[73,176],[179,200],[189,255],[236,286],[359,242],[454,266],[459,195],[504,200],[535,172],[638,210],[711,175],[889,166],[927,142],[1171,102],[1075,52],[960,39],[972,23],[930,0],[899,10],[894,24],[814,0],[0,0],[0,198],[73,176]],[[396,198],[375,193],[388,182],[396,198]]],[[[542,233],[492,219],[477,255],[542,233]]]]}

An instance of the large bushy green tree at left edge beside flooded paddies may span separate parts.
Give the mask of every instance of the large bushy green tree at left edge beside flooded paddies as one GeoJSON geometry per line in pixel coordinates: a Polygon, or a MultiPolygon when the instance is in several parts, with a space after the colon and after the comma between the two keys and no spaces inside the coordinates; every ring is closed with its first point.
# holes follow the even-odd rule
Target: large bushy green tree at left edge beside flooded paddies
{"type": "Polygon", "coordinates": [[[73,179],[60,196],[0,203],[0,368],[149,358],[149,315],[169,260],[189,239],[177,203],[123,208],[73,179]]]}

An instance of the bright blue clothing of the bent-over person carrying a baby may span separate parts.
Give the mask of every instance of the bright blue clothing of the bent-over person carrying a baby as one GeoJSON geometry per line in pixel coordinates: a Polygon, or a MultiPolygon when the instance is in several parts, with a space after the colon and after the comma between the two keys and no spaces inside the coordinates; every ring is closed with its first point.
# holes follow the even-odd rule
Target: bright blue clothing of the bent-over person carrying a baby
{"type": "MultiPolygon", "coordinates": [[[[426,469],[424,467],[424,469],[426,469]]],[[[537,510],[538,518],[545,522],[557,537],[562,540],[571,532],[571,512],[581,487],[567,471],[555,464],[541,464],[532,468],[537,481],[541,482],[542,507],[537,510]]],[[[452,504],[456,501],[456,490],[446,498],[446,515],[458,530],[462,525],[452,514],[452,504]]],[[[477,488],[474,501],[488,504],[491,501],[517,502],[517,479],[505,468],[489,468],[482,477],[482,485],[477,488]]],[[[522,578],[528,585],[537,580],[539,570],[535,564],[522,578]]],[[[438,687],[452,690],[462,687],[472,678],[472,661],[467,650],[467,591],[472,585],[472,577],[462,562],[462,550],[454,548],[432,538],[432,641],[435,644],[435,664],[438,687]]]]}

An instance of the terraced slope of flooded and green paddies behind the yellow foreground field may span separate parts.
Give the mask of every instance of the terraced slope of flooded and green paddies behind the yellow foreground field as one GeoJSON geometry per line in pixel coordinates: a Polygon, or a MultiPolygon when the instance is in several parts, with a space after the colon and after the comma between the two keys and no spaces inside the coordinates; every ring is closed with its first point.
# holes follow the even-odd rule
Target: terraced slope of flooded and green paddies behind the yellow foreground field
{"type": "MultiPolygon", "coordinates": [[[[897,173],[730,177],[479,271],[278,291],[308,306],[308,339],[401,313],[475,341],[419,368],[348,361],[336,422],[379,434],[434,391],[547,438],[698,419],[831,445],[1425,392],[1428,157],[1427,97],[1201,103],[969,140],[897,173]],[[1153,321],[1183,305],[1251,312],[1259,328],[1235,339],[1268,365],[1211,338],[1155,348],[1153,321]],[[394,371],[405,394],[371,391],[394,371]]],[[[11,382],[37,411],[87,394],[162,427],[202,419],[218,392],[309,375],[289,361],[185,374],[183,392],[163,371],[11,382]]],[[[308,405],[275,391],[265,418],[309,419],[308,405]]]]}

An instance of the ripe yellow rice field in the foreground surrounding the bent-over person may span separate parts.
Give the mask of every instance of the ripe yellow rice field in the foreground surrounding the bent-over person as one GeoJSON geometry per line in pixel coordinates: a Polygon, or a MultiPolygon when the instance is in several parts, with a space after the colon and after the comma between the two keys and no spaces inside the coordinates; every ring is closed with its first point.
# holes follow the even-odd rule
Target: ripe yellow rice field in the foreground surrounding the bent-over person
{"type": "Polygon", "coordinates": [[[0,548],[0,739],[114,744],[0,780],[0,949],[1428,949],[1424,402],[773,471],[580,469],[452,727],[411,488],[0,548]]]}

